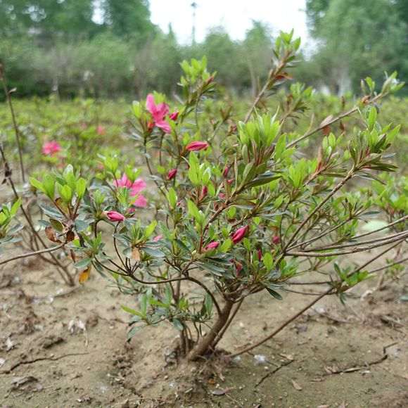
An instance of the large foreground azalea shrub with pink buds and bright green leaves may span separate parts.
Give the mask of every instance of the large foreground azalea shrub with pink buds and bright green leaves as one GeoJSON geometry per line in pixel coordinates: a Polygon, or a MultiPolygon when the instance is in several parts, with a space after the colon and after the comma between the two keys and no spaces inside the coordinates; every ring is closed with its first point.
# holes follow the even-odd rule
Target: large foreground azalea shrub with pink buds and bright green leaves
{"type": "MultiPolygon", "coordinates": [[[[125,154],[98,153],[91,171],[67,165],[30,179],[43,229],[36,239],[53,243],[47,255],[67,253],[80,283],[91,285],[98,272],[137,296],[137,305],[132,297],[122,305],[129,339],[171,324],[179,355],[200,359],[248,296],[277,301],[295,291],[312,295],[310,305],[326,295],[344,302],[374,274],[371,262],[406,246],[406,181],[395,185],[389,175],[399,127],[381,125],[376,107],[402,84],[393,74],[376,91],[366,78],[354,107],[296,132],[314,98],[291,83],[299,46],[293,33],[279,36],[267,81],[241,117],[231,101],[217,101],[205,58],[184,61],[178,103],[155,92],[134,102],[125,154]],[[286,99],[271,112],[278,91],[286,99]],[[348,127],[349,117],[357,125],[348,127]],[[305,154],[312,138],[316,151],[305,154]],[[362,233],[373,218],[385,225],[362,233]],[[344,256],[374,248],[357,266],[344,256]],[[304,279],[315,272],[318,281],[304,279]],[[311,283],[317,288],[302,291],[311,283]]],[[[44,148],[60,153],[56,144],[44,148]]]]}

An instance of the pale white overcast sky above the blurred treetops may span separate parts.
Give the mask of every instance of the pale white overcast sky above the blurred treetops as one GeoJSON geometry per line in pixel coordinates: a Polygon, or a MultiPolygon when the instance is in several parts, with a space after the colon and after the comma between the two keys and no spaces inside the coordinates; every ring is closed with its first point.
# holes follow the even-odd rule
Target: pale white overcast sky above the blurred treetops
{"type": "MultiPolygon", "coordinates": [[[[179,42],[191,42],[193,0],[150,0],[153,23],[168,31],[169,23],[179,42]]],[[[211,27],[222,25],[233,39],[243,39],[252,20],[268,23],[274,32],[295,30],[307,39],[305,0],[196,0],[196,40],[211,27]]]]}

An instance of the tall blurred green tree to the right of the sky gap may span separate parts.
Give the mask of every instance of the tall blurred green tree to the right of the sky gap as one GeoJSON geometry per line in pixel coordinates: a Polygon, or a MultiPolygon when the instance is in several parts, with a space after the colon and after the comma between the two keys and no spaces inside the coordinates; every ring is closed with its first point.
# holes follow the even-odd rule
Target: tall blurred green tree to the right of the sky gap
{"type": "Polygon", "coordinates": [[[307,0],[312,35],[318,40],[317,82],[343,94],[371,75],[381,82],[384,71],[407,72],[407,1],[307,0]]]}

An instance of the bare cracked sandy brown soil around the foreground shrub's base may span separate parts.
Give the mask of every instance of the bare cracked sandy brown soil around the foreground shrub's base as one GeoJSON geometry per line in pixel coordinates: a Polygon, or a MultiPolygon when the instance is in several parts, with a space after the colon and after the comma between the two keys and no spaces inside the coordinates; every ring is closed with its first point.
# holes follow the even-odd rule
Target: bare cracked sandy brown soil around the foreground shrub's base
{"type": "MultiPolygon", "coordinates": [[[[94,273],[74,291],[38,260],[0,271],[0,407],[408,407],[408,276],[383,291],[317,303],[276,338],[233,362],[173,358],[177,331],[126,343],[120,295],[94,273]],[[384,349],[385,348],[385,349],[384,349]]],[[[234,352],[310,301],[249,298],[220,343],[234,352]]]]}

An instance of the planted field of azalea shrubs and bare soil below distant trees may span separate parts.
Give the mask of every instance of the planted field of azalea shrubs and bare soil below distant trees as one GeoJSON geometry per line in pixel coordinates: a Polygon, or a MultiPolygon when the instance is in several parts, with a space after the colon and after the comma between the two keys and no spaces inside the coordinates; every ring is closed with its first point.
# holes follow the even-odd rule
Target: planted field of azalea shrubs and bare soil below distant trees
{"type": "Polygon", "coordinates": [[[205,58],[180,93],[0,106],[1,407],[407,407],[408,101],[205,58]]]}

